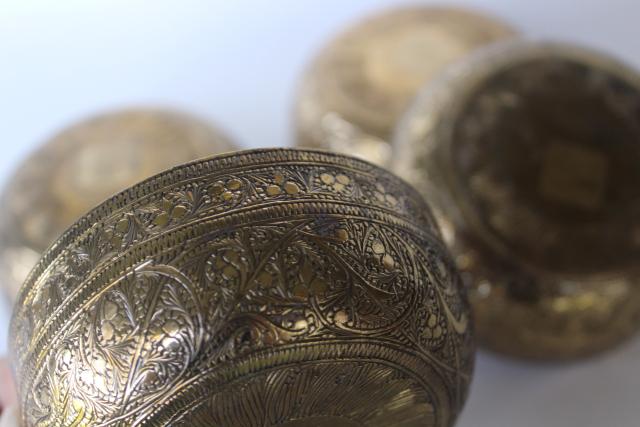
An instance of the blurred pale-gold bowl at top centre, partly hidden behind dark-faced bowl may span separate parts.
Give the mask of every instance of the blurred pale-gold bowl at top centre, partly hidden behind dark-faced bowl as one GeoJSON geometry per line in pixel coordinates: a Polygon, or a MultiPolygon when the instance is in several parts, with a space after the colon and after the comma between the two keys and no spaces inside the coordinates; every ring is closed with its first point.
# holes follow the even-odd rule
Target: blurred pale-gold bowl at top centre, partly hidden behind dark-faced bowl
{"type": "Polygon", "coordinates": [[[301,82],[297,144],[388,165],[393,128],[420,88],[479,46],[514,35],[500,21],[453,8],[398,9],[355,25],[301,82]]]}

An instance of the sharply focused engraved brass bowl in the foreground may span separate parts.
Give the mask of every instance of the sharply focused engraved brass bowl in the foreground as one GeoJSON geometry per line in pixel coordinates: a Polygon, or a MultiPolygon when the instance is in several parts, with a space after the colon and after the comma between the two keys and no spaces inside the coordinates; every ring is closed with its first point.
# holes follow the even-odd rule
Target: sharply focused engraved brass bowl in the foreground
{"type": "Polygon", "coordinates": [[[11,323],[27,426],[451,426],[474,345],[424,200],[284,149],[175,168],[80,219],[11,323]]]}

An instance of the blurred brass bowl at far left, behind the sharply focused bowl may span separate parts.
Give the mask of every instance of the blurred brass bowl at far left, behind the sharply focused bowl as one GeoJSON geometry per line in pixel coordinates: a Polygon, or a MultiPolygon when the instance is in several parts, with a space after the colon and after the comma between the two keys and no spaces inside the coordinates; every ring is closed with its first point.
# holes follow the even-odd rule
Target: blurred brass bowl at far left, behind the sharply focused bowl
{"type": "Polygon", "coordinates": [[[13,301],[42,252],[80,216],[148,176],[230,151],[191,116],[125,110],[72,126],[19,166],[0,203],[0,282],[13,301]]]}

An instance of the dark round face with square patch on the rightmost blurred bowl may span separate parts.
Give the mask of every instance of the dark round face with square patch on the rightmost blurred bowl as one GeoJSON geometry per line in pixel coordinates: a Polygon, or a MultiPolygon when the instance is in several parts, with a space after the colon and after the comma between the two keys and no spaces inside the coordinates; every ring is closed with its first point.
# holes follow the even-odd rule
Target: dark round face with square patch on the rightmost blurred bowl
{"type": "Polygon", "coordinates": [[[467,212],[503,251],[561,274],[640,255],[640,93],[555,57],[503,69],[461,112],[452,146],[467,212]]]}

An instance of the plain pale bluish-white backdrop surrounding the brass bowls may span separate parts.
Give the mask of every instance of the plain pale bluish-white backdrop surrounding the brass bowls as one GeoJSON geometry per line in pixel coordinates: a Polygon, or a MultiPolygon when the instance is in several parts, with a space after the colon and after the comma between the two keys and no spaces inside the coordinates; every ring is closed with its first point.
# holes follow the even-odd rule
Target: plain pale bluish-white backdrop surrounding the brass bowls
{"type": "MultiPolygon", "coordinates": [[[[428,3],[428,2],[423,2],[428,3]]],[[[441,1],[442,3],[451,3],[441,1]]],[[[245,147],[290,145],[295,83],[337,30],[393,0],[0,0],[0,183],[88,114],[173,106],[245,147]]],[[[637,0],[476,0],[530,37],[640,65],[637,0]]],[[[0,350],[7,310],[0,310],[0,350]]],[[[480,354],[459,427],[638,427],[640,339],[568,365],[480,354]]]]}

